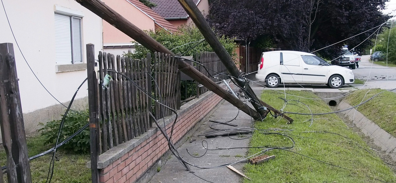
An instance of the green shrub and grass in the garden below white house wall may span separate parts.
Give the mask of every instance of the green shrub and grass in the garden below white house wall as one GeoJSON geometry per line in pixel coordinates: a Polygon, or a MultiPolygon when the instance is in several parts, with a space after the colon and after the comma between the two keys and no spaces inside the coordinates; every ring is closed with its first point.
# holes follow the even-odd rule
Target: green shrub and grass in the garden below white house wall
{"type": "MultiPolygon", "coordinates": [[[[80,111],[88,114],[88,110],[80,111]]],[[[88,123],[88,117],[70,112],[65,120],[59,142],[71,136],[88,123]]],[[[55,145],[60,120],[48,122],[34,137],[27,138],[27,149],[29,157],[40,154],[55,145]]],[[[89,129],[74,137],[65,145],[59,147],[55,154],[55,168],[51,183],[91,183],[91,169],[87,167],[90,161],[88,153],[89,129]]],[[[49,172],[49,163],[53,153],[30,161],[30,170],[33,183],[46,183],[49,172]]],[[[3,147],[0,148],[0,165],[6,165],[6,154],[3,147]]],[[[6,174],[4,180],[7,180],[6,174]]],[[[7,181],[6,181],[7,182],[7,181]]]]}

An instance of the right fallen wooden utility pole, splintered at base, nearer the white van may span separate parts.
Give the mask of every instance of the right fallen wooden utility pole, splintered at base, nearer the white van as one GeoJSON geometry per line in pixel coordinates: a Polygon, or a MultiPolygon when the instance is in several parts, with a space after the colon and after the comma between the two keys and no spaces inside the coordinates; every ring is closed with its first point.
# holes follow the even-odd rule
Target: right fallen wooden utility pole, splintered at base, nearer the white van
{"type": "MultiPolygon", "coordinates": [[[[276,114],[280,115],[281,112],[274,109],[270,105],[266,104],[265,102],[261,101],[251,90],[250,86],[245,83],[245,81],[240,80],[240,76],[242,75],[241,71],[238,70],[237,66],[235,65],[234,61],[232,60],[230,54],[228,54],[227,50],[221,45],[220,41],[217,39],[216,35],[214,34],[213,30],[210,28],[209,24],[206,22],[205,18],[199,11],[197,5],[193,2],[193,0],[178,0],[186,12],[189,14],[195,25],[198,27],[199,31],[202,33],[203,37],[205,38],[206,42],[212,47],[214,52],[220,58],[221,62],[225,65],[228,72],[235,78],[236,83],[245,90],[247,96],[251,98],[250,102],[256,111],[263,115],[266,114],[266,110],[264,109],[265,106],[270,110],[274,111],[276,114]]],[[[282,115],[289,123],[293,122],[293,119],[289,118],[286,115],[282,115]]]]}

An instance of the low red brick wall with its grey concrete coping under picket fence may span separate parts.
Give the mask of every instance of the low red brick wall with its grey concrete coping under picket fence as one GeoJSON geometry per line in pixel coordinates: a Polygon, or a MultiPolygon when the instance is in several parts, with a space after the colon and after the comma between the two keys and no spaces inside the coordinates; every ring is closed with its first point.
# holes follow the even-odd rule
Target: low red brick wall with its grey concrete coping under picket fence
{"type": "MultiPolygon", "coordinates": [[[[183,105],[178,110],[172,141],[176,143],[190,131],[222,98],[206,92],[183,105]]],[[[169,135],[176,116],[166,117],[169,135]]],[[[163,120],[158,120],[163,126],[163,120]]],[[[156,127],[153,124],[153,127],[156,127]]],[[[150,129],[141,137],[134,138],[99,156],[100,183],[135,183],[169,150],[165,137],[157,128],[150,129]]],[[[182,166],[182,165],[180,165],[182,166]]]]}

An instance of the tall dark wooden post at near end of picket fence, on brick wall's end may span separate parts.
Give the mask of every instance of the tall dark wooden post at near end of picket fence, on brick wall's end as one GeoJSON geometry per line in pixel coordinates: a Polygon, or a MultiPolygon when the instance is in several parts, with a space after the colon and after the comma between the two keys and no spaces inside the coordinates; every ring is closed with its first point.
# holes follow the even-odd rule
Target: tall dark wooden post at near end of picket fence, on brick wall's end
{"type": "Polygon", "coordinates": [[[91,177],[92,183],[99,183],[98,171],[98,131],[99,105],[98,105],[98,79],[95,71],[95,46],[87,44],[87,73],[88,73],[88,107],[90,111],[90,142],[91,142],[91,177]]]}

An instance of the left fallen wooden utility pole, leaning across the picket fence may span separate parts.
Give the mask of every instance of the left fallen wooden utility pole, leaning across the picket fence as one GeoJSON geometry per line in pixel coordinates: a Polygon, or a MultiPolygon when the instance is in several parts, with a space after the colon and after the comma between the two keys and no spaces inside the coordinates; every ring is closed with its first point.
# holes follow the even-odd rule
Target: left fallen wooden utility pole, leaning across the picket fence
{"type": "MultiPolygon", "coordinates": [[[[138,43],[142,44],[146,48],[151,51],[158,51],[163,53],[168,53],[173,56],[175,54],[167,49],[165,46],[159,44],[153,38],[148,36],[144,31],[133,25],[127,19],[122,17],[119,13],[108,7],[106,4],[101,2],[100,0],[76,0],[78,3],[86,7],[87,9],[91,10],[93,13],[97,14],[100,18],[108,22],[110,25],[113,25],[115,28],[120,30],[121,32],[125,33],[138,43]]],[[[221,88],[219,85],[214,83],[208,77],[200,73],[197,69],[195,69],[190,64],[187,64],[182,59],[177,59],[177,63],[179,66],[179,70],[184,72],[186,75],[190,76],[198,83],[202,84],[208,90],[216,93],[217,95],[221,96],[238,109],[241,109],[246,114],[250,115],[255,120],[261,119],[261,115],[256,112],[254,109],[250,108],[242,102],[240,99],[232,95],[231,93],[227,92],[225,89],[221,88]]]]}

